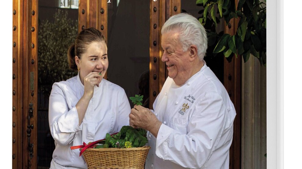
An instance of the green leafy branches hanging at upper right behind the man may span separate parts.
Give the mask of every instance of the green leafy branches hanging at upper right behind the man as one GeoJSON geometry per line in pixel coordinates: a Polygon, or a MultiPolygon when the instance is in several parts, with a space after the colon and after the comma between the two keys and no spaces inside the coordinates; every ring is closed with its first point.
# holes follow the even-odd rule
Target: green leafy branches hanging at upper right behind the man
{"type": "Polygon", "coordinates": [[[244,62],[250,54],[266,66],[266,0],[196,0],[196,5],[203,6],[199,13],[199,22],[207,29],[209,53],[223,53],[227,60],[235,55],[243,56],[244,62]],[[224,20],[226,25],[232,18],[239,18],[234,35],[217,33],[215,27],[224,20]],[[213,46],[213,47],[211,47],[213,46]],[[214,49],[213,49],[214,48],[214,49]]]}

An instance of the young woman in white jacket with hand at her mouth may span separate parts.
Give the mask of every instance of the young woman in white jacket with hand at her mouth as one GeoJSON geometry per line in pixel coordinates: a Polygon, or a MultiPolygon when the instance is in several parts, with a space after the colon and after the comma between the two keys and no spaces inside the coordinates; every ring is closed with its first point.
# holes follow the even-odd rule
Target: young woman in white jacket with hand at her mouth
{"type": "Polygon", "coordinates": [[[131,108],[123,88],[103,79],[108,68],[106,40],[94,28],[84,29],[68,50],[78,75],[56,82],[49,97],[49,127],[56,148],[50,168],[87,168],[82,145],[105,138],[129,125],[131,108]]]}

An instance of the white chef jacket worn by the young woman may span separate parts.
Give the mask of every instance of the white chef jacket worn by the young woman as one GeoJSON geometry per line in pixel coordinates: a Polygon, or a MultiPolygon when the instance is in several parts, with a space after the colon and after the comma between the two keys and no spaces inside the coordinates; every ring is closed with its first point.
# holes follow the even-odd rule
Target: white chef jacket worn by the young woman
{"type": "Polygon", "coordinates": [[[116,133],[129,125],[130,104],[123,88],[102,79],[79,126],[75,105],[83,96],[84,85],[79,75],[52,85],[49,97],[49,127],[56,148],[51,168],[87,168],[80,150],[72,146],[104,139],[106,133],[116,133]]]}

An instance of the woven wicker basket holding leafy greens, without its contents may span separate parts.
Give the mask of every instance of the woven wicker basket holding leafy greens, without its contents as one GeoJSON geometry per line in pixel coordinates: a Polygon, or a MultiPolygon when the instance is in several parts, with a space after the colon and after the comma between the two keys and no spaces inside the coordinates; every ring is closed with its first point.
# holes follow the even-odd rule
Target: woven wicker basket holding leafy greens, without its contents
{"type": "Polygon", "coordinates": [[[88,148],[84,160],[89,169],[144,169],[150,147],[88,148]]]}

